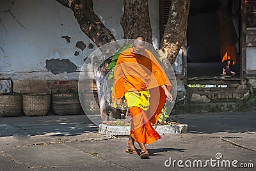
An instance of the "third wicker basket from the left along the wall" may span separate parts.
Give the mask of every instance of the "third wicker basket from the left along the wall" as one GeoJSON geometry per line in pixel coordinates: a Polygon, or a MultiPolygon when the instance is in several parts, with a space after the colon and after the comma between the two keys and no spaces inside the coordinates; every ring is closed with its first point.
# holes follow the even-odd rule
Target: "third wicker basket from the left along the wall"
{"type": "Polygon", "coordinates": [[[78,94],[53,93],[52,109],[56,115],[76,115],[81,110],[78,94]]]}

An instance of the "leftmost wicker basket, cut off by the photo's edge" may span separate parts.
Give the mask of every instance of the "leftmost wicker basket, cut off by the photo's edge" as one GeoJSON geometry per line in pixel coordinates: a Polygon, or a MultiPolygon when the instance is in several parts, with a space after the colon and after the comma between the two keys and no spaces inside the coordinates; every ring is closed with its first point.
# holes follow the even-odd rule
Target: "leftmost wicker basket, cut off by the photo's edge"
{"type": "Polygon", "coordinates": [[[0,95],[0,117],[18,116],[22,108],[22,95],[1,94],[0,95]]]}

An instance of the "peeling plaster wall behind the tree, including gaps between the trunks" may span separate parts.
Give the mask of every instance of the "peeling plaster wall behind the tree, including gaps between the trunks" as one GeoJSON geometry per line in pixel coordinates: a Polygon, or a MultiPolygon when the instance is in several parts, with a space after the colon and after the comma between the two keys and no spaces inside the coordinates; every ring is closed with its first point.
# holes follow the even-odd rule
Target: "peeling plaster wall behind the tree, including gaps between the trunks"
{"type": "MultiPolygon", "coordinates": [[[[120,17],[123,1],[94,0],[95,13],[116,40],[124,37],[120,17]]],[[[159,4],[149,0],[150,22],[155,47],[159,44],[159,4]]],[[[79,28],[73,11],[54,0],[1,0],[0,2],[0,74],[33,72],[33,78],[57,78],[46,68],[46,61],[67,59],[70,64],[83,66],[84,58],[97,46],[79,28]],[[45,74],[44,74],[45,73],[45,74]],[[52,75],[52,76],[51,76],[52,75]]],[[[68,62],[68,63],[69,63],[68,62]]],[[[55,73],[58,73],[55,72],[55,73]]],[[[1,77],[0,75],[0,77],[1,77]]],[[[74,74],[68,73],[74,77],[74,74]]],[[[25,77],[25,76],[24,76],[25,77]]],[[[71,77],[71,76],[70,76],[71,77]]],[[[28,78],[28,76],[26,76],[28,78]]]]}

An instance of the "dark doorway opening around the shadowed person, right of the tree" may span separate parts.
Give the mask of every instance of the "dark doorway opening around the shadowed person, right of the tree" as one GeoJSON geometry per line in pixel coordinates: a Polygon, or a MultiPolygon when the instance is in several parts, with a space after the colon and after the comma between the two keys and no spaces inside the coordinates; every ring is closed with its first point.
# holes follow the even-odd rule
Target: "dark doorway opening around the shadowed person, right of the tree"
{"type": "MultiPolygon", "coordinates": [[[[219,0],[193,0],[189,10],[187,33],[187,72],[189,78],[214,78],[222,73],[220,54],[220,27],[218,18],[219,0]]],[[[240,0],[230,0],[230,8],[240,8],[240,0]]],[[[240,35],[240,19],[234,20],[237,37],[240,35]]],[[[239,79],[239,43],[237,42],[237,64],[231,66],[239,79]]]]}

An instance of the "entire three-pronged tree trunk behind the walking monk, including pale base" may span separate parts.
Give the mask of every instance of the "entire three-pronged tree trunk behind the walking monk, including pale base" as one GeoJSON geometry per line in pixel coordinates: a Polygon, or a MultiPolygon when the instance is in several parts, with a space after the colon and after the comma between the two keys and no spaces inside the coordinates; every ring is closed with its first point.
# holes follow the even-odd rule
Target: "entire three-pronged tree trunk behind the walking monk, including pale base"
{"type": "MultiPolygon", "coordinates": [[[[56,1],[74,11],[74,16],[81,30],[97,47],[115,41],[113,34],[111,34],[109,29],[102,24],[99,17],[94,13],[92,0],[56,1]]],[[[161,50],[167,57],[164,59],[168,59],[171,63],[175,61],[186,35],[189,4],[190,0],[172,0],[170,17],[168,18],[166,28],[164,29],[163,40],[161,41],[161,50]]],[[[152,29],[150,26],[147,0],[124,0],[124,15],[120,20],[120,24],[124,29],[125,39],[134,39],[137,36],[143,36],[145,41],[152,43],[152,29]]],[[[100,101],[100,114],[102,120],[106,120],[108,119],[106,116],[113,115],[111,111],[113,109],[109,108],[102,95],[102,80],[106,77],[106,73],[102,72],[101,69],[101,67],[95,68],[95,73],[100,101]]]]}

